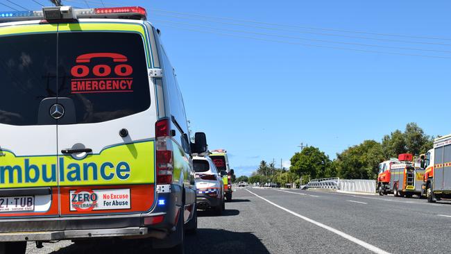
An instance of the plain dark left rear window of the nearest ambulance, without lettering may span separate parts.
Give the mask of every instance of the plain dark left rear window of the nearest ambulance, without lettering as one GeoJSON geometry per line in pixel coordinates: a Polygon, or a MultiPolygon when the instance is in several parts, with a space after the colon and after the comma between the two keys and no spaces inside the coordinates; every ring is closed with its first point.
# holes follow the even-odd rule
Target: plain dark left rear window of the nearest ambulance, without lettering
{"type": "Polygon", "coordinates": [[[57,92],[56,33],[0,37],[0,77],[0,124],[36,125],[57,92]]]}

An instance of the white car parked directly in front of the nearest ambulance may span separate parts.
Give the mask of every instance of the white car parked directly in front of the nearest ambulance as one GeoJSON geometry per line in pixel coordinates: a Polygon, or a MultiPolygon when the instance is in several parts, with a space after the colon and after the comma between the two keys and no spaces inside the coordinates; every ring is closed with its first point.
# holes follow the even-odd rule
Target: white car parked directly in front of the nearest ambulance
{"type": "Polygon", "coordinates": [[[225,210],[223,176],[208,156],[194,156],[196,171],[196,203],[201,210],[213,209],[218,215],[225,210]]]}

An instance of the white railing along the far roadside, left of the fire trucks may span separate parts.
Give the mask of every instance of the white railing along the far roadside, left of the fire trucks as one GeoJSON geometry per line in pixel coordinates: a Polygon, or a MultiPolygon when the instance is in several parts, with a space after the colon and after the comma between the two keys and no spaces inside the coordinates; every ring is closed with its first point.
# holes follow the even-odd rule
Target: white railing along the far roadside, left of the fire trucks
{"type": "Polygon", "coordinates": [[[343,192],[376,192],[376,181],[366,179],[318,178],[307,183],[309,188],[339,189],[343,192]]]}

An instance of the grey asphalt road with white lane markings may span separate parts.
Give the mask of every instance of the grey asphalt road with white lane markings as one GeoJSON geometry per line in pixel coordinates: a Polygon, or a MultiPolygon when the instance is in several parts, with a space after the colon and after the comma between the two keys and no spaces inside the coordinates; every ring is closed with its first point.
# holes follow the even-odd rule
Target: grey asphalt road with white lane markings
{"type": "MultiPolygon", "coordinates": [[[[223,216],[198,212],[186,253],[449,253],[451,202],[242,188],[223,216]]],[[[27,253],[149,253],[146,242],[30,243],[27,253]]]]}

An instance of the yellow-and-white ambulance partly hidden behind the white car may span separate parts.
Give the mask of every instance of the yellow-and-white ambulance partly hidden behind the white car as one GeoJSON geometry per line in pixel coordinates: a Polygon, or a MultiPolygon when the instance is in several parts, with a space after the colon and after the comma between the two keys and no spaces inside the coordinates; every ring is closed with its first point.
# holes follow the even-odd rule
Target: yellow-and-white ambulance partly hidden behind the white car
{"type": "Polygon", "coordinates": [[[227,151],[224,149],[212,150],[210,152],[210,158],[212,158],[219,172],[226,171],[226,173],[223,173],[225,175],[223,176],[224,196],[227,201],[232,201],[232,175],[234,171],[230,169],[227,151]]]}

